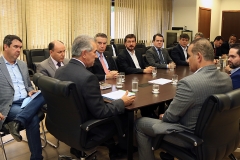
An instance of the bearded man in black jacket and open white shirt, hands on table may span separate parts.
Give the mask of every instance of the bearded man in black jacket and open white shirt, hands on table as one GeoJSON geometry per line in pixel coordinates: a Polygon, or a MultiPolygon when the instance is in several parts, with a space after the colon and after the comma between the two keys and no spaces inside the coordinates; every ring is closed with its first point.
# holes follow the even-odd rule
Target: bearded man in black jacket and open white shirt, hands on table
{"type": "Polygon", "coordinates": [[[135,50],[136,36],[126,35],[124,43],[126,49],[122,50],[117,57],[119,71],[125,74],[152,73],[152,67],[145,66],[142,54],[135,50]]]}

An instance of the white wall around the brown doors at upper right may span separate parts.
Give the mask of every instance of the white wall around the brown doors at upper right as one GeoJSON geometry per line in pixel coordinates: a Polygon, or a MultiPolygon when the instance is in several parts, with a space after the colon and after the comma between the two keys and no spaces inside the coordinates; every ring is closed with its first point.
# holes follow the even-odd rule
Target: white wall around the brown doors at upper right
{"type": "Polygon", "coordinates": [[[240,10],[240,0],[173,0],[173,26],[187,25],[193,35],[198,31],[199,7],[211,9],[210,40],[221,34],[222,11],[240,10]]]}

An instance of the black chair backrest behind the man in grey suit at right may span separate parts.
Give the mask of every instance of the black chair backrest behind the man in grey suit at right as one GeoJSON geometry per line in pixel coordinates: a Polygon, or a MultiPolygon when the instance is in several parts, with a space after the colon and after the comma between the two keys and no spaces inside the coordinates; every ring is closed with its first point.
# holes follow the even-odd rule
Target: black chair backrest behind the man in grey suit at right
{"type": "Polygon", "coordinates": [[[222,159],[239,144],[240,89],[210,96],[202,106],[195,135],[203,139],[196,147],[197,159],[222,159]]]}

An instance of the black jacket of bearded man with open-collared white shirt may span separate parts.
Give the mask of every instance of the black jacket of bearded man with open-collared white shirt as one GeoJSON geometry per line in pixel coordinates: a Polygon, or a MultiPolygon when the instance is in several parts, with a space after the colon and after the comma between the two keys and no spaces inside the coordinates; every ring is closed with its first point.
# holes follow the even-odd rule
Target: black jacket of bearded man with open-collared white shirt
{"type": "Polygon", "coordinates": [[[135,55],[137,57],[140,68],[136,68],[132,57],[129,55],[127,49],[124,49],[121,53],[118,54],[117,64],[120,72],[125,72],[125,74],[136,74],[143,73],[145,68],[142,54],[135,50],[135,55]]]}

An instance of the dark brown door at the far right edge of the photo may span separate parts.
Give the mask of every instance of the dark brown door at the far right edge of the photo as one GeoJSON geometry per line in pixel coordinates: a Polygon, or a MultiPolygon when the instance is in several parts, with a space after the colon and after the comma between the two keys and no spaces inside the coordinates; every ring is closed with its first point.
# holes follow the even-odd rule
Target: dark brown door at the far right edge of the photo
{"type": "Polygon", "coordinates": [[[235,34],[237,36],[236,43],[240,43],[240,10],[222,11],[221,36],[227,41],[231,34],[235,34]]]}

